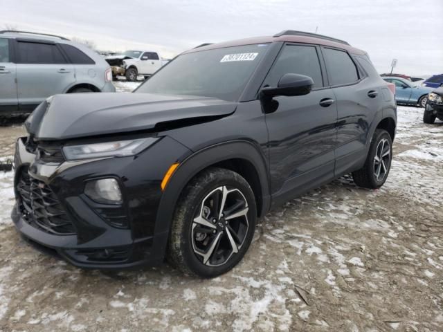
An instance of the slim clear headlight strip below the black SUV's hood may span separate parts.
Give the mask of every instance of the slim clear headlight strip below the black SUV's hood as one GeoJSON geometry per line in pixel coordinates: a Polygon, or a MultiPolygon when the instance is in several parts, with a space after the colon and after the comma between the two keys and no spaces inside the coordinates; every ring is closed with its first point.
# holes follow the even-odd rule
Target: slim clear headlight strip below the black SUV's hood
{"type": "Polygon", "coordinates": [[[158,138],[148,137],[86,145],[66,145],[63,147],[63,153],[67,160],[134,156],[154,144],[156,140],[158,138]]]}

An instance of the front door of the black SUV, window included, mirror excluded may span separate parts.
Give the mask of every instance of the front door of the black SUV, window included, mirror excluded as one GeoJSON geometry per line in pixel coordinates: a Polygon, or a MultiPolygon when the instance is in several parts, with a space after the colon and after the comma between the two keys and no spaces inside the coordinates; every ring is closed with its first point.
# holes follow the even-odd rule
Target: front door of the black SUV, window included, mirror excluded
{"type": "Polygon", "coordinates": [[[332,89],[325,88],[319,48],[286,44],[264,80],[277,86],[282,75],[314,80],[311,93],[277,96],[276,110],[266,114],[273,201],[286,201],[334,176],[337,110],[332,89]]]}

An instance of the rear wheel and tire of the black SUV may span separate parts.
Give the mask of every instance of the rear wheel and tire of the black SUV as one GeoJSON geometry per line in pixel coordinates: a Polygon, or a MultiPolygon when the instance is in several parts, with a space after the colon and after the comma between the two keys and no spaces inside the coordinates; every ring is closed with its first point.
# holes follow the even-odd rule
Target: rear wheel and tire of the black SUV
{"type": "Polygon", "coordinates": [[[388,178],[392,161],[392,139],[388,131],[376,129],[366,157],[365,165],[352,172],[354,183],[359,187],[377,189],[388,178]]]}

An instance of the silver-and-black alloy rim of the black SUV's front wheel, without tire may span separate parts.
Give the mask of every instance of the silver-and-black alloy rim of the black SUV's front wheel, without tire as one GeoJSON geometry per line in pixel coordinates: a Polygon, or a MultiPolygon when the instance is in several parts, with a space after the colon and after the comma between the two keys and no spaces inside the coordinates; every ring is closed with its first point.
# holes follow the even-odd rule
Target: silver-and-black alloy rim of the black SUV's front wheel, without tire
{"type": "Polygon", "coordinates": [[[248,202],[237,188],[217,187],[192,221],[192,249],[207,266],[221,266],[239,252],[248,233],[248,202]]]}

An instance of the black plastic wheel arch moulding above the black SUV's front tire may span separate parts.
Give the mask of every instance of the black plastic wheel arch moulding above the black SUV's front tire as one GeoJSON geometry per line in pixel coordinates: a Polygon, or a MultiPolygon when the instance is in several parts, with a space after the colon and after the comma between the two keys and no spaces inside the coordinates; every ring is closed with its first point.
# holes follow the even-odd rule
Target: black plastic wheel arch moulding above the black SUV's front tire
{"type": "Polygon", "coordinates": [[[221,167],[238,172],[251,185],[257,201],[258,216],[269,210],[269,172],[260,147],[246,140],[221,143],[196,151],[177,167],[161,197],[155,233],[170,230],[174,208],[181,192],[192,178],[208,167],[221,167]]]}

